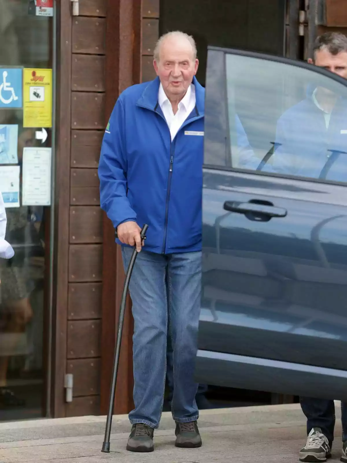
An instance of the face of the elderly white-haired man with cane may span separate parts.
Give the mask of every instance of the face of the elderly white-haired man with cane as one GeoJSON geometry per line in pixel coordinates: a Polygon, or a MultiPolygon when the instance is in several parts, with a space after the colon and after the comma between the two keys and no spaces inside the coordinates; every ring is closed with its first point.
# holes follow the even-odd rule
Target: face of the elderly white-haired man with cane
{"type": "Polygon", "coordinates": [[[154,61],[155,72],[160,78],[167,97],[183,97],[198,70],[192,45],[185,38],[167,38],[160,49],[158,63],[154,61]]]}

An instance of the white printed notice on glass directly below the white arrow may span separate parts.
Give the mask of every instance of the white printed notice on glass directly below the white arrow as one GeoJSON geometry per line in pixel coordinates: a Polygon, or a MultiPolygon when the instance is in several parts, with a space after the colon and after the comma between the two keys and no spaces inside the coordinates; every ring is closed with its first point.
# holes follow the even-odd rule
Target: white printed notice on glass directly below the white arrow
{"type": "Polygon", "coordinates": [[[23,206],[50,206],[51,148],[24,148],[23,206]]]}

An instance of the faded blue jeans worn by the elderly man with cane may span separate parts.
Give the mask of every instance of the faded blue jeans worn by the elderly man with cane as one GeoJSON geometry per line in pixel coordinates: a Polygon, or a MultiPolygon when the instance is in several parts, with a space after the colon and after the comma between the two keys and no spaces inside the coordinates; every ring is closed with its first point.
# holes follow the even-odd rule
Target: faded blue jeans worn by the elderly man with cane
{"type": "MultiPolygon", "coordinates": [[[[125,270],[132,248],[122,246],[125,270]]],[[[155,254],[142,250],[130,279],[134,317],[134,403],[131,424],[157,428],[164,401],[167,333],[173,347],[175,421],[198,419],[193,371],[198,342],[201,252],[155,254]],[[166,288],[167,282],[167,288],[166,288]]]]}

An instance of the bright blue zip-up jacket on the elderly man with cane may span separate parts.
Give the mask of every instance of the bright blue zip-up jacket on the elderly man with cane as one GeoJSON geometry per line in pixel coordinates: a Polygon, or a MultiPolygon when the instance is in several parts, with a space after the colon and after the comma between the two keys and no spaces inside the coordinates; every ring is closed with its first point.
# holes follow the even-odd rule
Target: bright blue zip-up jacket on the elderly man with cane
{"type": "Polygon", "coordinates": [[[151,252],[201,250],[204,88],[195,77],[193,84],[196,106],[173,141],[158,104],[159,78],[124,90],[105,131],[101,207],[115,229],[147,223],[151,252]]]}

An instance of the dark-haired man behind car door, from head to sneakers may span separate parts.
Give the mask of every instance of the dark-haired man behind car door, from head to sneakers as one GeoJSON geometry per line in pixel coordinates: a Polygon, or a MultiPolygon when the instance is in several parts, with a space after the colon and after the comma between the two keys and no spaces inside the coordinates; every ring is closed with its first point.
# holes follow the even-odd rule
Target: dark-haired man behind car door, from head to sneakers
{"type": "MultiPolygon", "coordinates": [[[[347,78],[347,38],[327,32],[316,39],[309,63],[347,78]]],[[[347,181],[347,100],[331,88],[309,88],[307,98],[288,109],[277,124],[277,150],[272,169],[333,181],[347,181]]],[[[264,170],[270,170],[269,168],[264,170]]],[[[325,462],[334,440],[333,400],[301,397],[307,418],[303,462],[325,462]]],[[[342,462],[347,462],[347,404],[342,404],[342,462]]]]}

